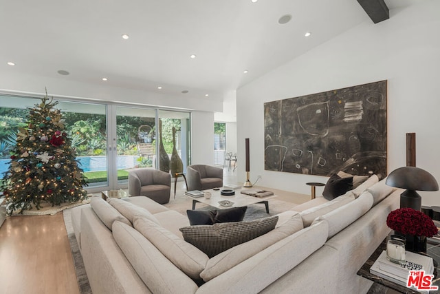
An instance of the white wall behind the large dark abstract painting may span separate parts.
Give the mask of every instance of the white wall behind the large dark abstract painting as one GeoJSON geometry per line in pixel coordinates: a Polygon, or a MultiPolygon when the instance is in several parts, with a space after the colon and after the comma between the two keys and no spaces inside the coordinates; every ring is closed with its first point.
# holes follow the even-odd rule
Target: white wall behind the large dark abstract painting
{"type": "MultiPolygon", "coordinates": [[[[417,166],[440,182],[439,12],[435,0],[391,10],[390,19],[366,21],[237,90],[237,151],[244,158],[250,138],[251,180],[261,175],[259,185],[298,193],[327,181],[264,170],[263,103],[388,80],[388,173],[406,164],[405,134],[415,132],[417,166]]],[[[440,205],[439,191],[420,193],[423,205],[440,205]]]]}

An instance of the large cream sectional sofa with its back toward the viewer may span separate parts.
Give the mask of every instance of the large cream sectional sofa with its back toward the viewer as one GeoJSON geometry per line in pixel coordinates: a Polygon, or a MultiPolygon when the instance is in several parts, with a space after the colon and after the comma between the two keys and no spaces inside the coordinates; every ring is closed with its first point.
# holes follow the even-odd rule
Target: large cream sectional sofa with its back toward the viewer
{"type": "Polygon", "coordinates": [[[186,216],[146,197],[92,198],[72,222],[95,294],[366,293],[372,282],[356,272],[389,233],[400,193],[372,176],[280,213],[276,229],[212,258],[182,239],[186,216]]]}

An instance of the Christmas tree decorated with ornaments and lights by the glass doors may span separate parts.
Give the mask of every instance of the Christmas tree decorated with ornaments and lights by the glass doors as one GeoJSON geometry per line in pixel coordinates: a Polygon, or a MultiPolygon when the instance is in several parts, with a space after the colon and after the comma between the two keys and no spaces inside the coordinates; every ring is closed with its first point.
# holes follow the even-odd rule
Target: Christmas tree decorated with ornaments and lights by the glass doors
{"type": "Polygon", "coordinates": [[[41,208],[42,202],[52,206],[87,198],[83,189],[87,182],[78,167],[76,151],[64,132],[64,120],[58,102],[47,98],[30,109],[28,128],[20,128],[17,145],[12,149],[8,171],[0,189],[5,196],[8,213],[41,208]]]}

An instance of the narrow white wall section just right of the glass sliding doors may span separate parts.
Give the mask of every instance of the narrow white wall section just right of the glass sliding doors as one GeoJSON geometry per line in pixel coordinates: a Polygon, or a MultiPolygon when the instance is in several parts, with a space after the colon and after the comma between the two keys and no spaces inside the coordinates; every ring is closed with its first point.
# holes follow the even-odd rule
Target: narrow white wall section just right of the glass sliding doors
{"type": "Polygon", "coordinates": [[[214,165],[214,113],[191,114],[191,164],[214,165]]]}

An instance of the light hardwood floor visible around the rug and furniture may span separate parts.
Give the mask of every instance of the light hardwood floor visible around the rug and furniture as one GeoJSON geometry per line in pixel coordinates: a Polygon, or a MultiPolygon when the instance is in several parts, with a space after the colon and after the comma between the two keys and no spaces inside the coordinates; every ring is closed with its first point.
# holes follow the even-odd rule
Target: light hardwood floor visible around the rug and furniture
{"type": "MultiPolygon", "coordinates": [[[[223,182],[237,183],[236,173],[225,169],[223,182]]],[[[185,189],[184,182],[177,182],[178,192],[185,189]]],[[[310,198],[278,190],[276,194],[296,204],[310,198]]],[[[62,212],[5,220],[0,227],[0,293],[79,293],[62,212]]]]}

